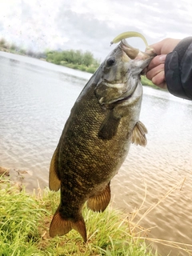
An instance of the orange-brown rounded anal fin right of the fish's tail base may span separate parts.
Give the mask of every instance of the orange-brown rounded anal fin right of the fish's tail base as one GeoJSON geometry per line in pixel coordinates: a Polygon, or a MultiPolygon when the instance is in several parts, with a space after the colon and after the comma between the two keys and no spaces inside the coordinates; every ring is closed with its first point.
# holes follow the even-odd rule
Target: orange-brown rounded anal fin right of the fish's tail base
{"type": "Polygon", "coordinates": [[[90,197],[87,201],[87,207],[94,211],[104,211],[110,203],[110,182],[100,194],[90,197]]]}

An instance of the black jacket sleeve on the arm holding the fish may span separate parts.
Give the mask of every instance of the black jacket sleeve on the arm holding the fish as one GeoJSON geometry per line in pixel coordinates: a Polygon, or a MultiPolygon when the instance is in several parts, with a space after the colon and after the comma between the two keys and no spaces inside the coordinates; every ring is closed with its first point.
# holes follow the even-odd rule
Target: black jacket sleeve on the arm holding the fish
{"type": "Polygon", "coordinates": [[[192,100],[192,37],[183,39],[167,54],[165,76],[170,94],[192,100]]]}

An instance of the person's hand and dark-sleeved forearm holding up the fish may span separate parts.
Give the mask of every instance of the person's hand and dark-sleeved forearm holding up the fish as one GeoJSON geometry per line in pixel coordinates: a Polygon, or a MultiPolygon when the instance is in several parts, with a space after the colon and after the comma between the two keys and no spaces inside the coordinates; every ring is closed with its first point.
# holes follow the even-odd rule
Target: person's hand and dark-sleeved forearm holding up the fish
{"type": "Polygon", "coordinates": [[[158,54],[150,62],[146,77],[180,98],[192,99],[192,37],[166,38],[150,46],[158,54]]]}

